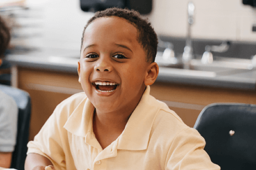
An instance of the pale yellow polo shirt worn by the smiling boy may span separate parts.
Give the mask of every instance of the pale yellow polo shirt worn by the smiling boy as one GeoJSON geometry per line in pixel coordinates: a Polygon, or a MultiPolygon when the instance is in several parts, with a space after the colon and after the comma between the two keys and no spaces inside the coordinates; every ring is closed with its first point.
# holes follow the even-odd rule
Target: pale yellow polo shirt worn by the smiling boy
{"type": "Polygon", "coordinates": [[[94,107],[82,92],[60,103],[28,153],[44,155],[56,169],[220,169],[205,140],[166,104],[145,90],[122,134],[102,150],[93,134],[94,107]]]}

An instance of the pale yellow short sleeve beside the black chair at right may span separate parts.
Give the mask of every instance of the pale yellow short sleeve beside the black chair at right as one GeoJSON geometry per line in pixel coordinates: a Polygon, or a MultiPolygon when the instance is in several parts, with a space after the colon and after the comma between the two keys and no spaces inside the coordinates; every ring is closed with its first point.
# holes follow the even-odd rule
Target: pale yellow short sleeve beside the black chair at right
{"type": "Polygon", "coordinates": [[[166,160],[166,169],[220,170],[204,150],[205,140],[196,129],[186,128],[173,140],[166,160]]]}

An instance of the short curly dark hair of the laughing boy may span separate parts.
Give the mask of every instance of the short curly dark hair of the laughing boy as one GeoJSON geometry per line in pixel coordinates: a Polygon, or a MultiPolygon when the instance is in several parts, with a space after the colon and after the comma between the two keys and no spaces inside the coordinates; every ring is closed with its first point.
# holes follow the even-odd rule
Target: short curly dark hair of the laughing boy
{"type": "Polygon", "coordinates": [[[136,27],[136,29],[138,30],[137,41],[142,45],[143,50],[147,55],[147,62],[154,62],[156,58],[158,43],[157,34],[151,26],[150,22],[148,22],[147,19],[142,18],[138,11],[129,10],[127,8],[108,8],[104,11],[97,11],[97,13],[95,13],[95,15],[90,18],[90,20],[88,20],[87,24],[84,27],[81,48],[84,41],[84,31],[86,30],[88,25],[90,25],[93,20],[97,18],[111,16],[124,18],[125,20],[127,20],[127,22],[131,23],[132,25],[134,25],[134,27],[136,27]]]}

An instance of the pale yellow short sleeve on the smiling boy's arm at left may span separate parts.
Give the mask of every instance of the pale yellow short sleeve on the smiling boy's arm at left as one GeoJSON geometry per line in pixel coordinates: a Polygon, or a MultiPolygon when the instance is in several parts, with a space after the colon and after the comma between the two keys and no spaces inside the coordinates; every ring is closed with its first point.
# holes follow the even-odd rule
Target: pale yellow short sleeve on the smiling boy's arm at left
{"type": "Polygon", "coordinates": [[[33,141],[28,143],[28,154],[38,153],[51,160],[56,169],[65,169],[65,153],[63,139],[67,136],[63,125],[65,117],[60,115],[61,109],[57,106],[52,115],[45,122],[33,141]]]}

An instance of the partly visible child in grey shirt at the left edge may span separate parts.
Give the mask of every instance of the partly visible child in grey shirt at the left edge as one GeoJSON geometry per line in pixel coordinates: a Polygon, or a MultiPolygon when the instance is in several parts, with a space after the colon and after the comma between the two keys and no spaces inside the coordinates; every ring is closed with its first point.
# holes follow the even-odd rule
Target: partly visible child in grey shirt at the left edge
{"type": "MultiPolygon", "coordinates": [[[[10,29],[0,16],[0,66],[10,43],[10,29]]],[[[0,87],[0,167],[10,167],[16,144],[18,106],[0,87]]]]}

